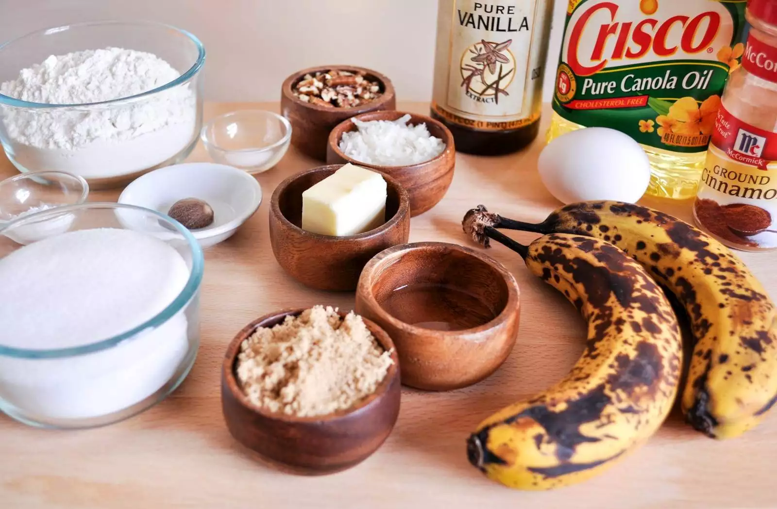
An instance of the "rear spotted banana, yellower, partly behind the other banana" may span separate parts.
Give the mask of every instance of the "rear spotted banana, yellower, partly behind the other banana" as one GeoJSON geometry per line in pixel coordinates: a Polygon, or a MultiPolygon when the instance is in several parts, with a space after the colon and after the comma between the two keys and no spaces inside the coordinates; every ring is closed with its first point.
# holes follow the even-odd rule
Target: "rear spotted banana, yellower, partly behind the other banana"
{"type": "Polygon", "coordinates": [[[777,308],[744,263],[709,235],[631,203],[575,203],[539,224],[479,213],[481,226],[611,241],[674,293],[695,339],[681,400],[694,428],[715,438],[736,437],[777,402],[777,308]]]}

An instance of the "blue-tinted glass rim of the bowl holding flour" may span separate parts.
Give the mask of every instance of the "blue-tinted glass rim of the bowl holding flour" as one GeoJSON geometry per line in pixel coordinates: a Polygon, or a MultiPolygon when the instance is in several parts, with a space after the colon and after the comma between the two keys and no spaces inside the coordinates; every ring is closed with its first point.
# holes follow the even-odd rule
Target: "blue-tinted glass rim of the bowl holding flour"
{"type": "Polygon", "coordinates": [[[34,30],[33,32],[26,33],[23,36],[16,37],[15,39],[12,39],[12,40],[6,41],[5,43],[0,44],[0,51],[7,50],[8,47],[10,47],[12,44],[17,43],[20,40],[26,39],[27,37],[39,36],[39,35],[46,36],[46,35],[51,35],[53,33],[64,32],[70,29],[79,29],[87,26],[101,26],[101,25],[124,25],[124,26],[146,26],[146,27],[152,26],[152,27],[161,28],[161,29],[173,30],[176,33],[179,33],[180,35],[185,36],[187,39],[190,40],[190,42],[194,43],[194,46],[197,48],[197,60],[194,61],[194,64],[189,68],[188,71],[183,72],[178,78],[172,81],[169,81],[164,85],[159,85],[159,87],[152,88],[151,90],[147,90],[146,92],[141,92],[135,95],[127,95],[127,97],[119,97],[117,99],[110,99],[108,101],[99,101],[99,102],[83,102],[83,103],[75,103],[75,104],[51,104],[47,102],[23,101],[22,99],[14,99],[12,97],[9,97],[8,95],[4,95],[0,93],[0,105],[16,106],[19,108],[56,109],[56,108],[68,108],[68,107],[73,108],[76,106],[104,106],[104,105],[111,105],[114,103],[122,103],[125,101],[127,102],[134,101],[137,99],[145,98],[148,95],[154,95],[156,93],[163,92],[169,88],[176,87],[177,85],[181,85],[186,81],[189,81],[191,78],[193,78],[194,75],[196,75],[200,71],[200,69],[203,67],[205,63],[205,47],[203,46],[203,43],[200,42],[199,39],[197,39],[197,36],[194,36],[193,33],[190,33],[184,29],[179,29],[176,26],[168,25],[166,23],[156,23],[153,21],[141,21],[141,20],[89,21],[85,23],[71,23],[69,25],[56,26],[56,27],[47,28],[47,29],[38,29],[38,30],[34,30]]]}

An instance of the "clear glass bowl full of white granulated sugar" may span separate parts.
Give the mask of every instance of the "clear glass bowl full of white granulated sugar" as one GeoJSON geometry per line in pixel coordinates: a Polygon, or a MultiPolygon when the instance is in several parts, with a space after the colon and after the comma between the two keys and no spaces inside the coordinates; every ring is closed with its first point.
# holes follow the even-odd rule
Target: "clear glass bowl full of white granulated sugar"
{"type": "Polygon", "coordinates": [[[203,266],[186,228],[137,206],[64,206],[0,227],[0,410],[90,428],[163,400],[197,356],[203,266]],[[67,231],[14,241],[62,216],[67,231]]]}

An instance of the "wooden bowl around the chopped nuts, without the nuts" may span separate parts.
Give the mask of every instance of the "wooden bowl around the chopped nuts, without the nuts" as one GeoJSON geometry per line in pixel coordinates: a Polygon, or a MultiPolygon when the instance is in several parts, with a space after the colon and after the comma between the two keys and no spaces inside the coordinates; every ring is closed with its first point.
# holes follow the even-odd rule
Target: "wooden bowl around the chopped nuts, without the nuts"
{"type": "Polygon", "coordinates": [[[326,161],[326,143],[329,140],[329,132],[337,124],[360,113],[395,108],[396,94],[394,85],[389,78],[379,72],[351,65],[325,65],[303,69],[286,78],[280,90],[280,113],[291,123],[291,144],[303,154],[319,161],[326,161]],[[315,75],[316,72],[333,69],[364,73],[365,78],[378,82],[382,95],[374,101],[365,102],[355,108],[318,106],[301,101],[294,95],[294,87],[305,78],[305,74],[315,75]]]}

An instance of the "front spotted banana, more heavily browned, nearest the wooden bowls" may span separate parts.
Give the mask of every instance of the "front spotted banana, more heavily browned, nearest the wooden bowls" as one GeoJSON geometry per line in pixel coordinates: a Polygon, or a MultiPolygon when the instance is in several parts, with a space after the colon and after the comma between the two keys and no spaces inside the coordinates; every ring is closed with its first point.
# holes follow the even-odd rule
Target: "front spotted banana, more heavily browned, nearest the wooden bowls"
{"type": "Polygon", "coordinates": [[[681,371],[677,317],[642,266],[607,242],[554,234],[527,248],[490,234],[577,306],[588,340],[565,379],[479,425],[469,460],[523,490],[587,480],[643,444],[671,410],[681,371]]]}

